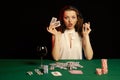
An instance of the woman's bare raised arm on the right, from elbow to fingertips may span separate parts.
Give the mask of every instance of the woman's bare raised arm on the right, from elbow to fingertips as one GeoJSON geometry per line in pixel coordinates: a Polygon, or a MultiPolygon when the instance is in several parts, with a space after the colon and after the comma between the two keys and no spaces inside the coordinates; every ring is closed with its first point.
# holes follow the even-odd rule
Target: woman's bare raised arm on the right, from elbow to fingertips
{"type": "Polygon", "coordinates": [[[91,32],[90,29],[90,22],[83,24],[82,29],[82,45],[86,59],[91,60],[93,58],[93,49],[90,43],[89,33],[91,32]]]}

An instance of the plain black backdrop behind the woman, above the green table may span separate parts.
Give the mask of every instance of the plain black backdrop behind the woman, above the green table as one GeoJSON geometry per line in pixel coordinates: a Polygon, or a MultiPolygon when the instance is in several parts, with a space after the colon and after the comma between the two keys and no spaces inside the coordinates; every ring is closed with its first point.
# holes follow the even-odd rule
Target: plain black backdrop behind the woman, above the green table
{"type": "Polygon", "coordinates": [[[65,5],[78,8],[84,20],[91,22],[94,58],[119,58],[113,47],[112,1],[44,0],[41,2],[5,2],[2,9],[0,58],[37,59],[36,46],[48,47],[51,59],[51,34],[46,31],[51,18],[58,17],[65,5]]]}

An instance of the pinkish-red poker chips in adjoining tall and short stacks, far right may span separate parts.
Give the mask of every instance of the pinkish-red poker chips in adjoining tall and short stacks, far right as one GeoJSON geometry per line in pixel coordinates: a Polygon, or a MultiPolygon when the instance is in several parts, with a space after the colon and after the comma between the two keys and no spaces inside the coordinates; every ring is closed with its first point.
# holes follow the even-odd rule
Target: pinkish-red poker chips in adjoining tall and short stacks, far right
{"type": "Polygon", "coordinates": [[[98,75],[107,74],[108,73],[107,59],[101,59],[101,66],[102,68],[96,68],[96,73],[98,75]]]}

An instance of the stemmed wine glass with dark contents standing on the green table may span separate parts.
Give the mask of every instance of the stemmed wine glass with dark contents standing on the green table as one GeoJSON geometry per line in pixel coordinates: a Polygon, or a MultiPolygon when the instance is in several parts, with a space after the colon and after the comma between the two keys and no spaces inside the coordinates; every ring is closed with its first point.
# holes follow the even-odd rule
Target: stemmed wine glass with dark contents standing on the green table
{"type": "Polygon", "coordinates": [[[41,57],[41,65],[40,67],[43,68],[43,57],[46,56],[48,50],[47,50],[47,47],[45,45],[38,45],[37,46],[37,53],[38,55],[41,57]]]}

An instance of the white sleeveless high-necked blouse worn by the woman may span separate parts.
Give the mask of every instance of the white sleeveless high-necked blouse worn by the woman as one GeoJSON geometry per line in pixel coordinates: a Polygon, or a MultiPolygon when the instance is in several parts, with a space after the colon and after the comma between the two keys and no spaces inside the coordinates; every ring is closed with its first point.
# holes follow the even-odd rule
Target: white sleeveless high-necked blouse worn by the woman
{"type": "Polygon", "coordinates": [[[82,59],[82,40],[75,30],[65,30],[60,40],[61,59],[82,59]],[[69,33],[72,33],[71,42],[69,33]],[[71,47],[70,47],[71,45],[71,47]]]}

